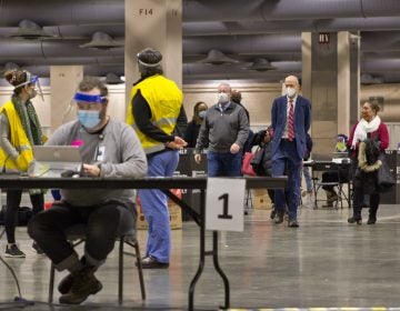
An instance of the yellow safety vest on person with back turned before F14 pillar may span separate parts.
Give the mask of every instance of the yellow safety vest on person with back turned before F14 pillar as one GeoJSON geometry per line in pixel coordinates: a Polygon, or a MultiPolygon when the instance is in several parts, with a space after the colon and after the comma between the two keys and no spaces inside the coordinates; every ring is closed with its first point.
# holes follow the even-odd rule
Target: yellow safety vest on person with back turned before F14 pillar
{"type": "Polygon", "coordinates": [[[177,126],[177,119],[183,102],[183,94],[178,86],[160,76],[151,76],[133,86],[131,100],[128,106],[127,123],[136,130],[146,153],[153,153],[164,149],[164,144],[143,134],[134,124],[132,114],[132,99],[140,93],[149,103],[151,122],[167,134],[171,134],[177,126]]]}

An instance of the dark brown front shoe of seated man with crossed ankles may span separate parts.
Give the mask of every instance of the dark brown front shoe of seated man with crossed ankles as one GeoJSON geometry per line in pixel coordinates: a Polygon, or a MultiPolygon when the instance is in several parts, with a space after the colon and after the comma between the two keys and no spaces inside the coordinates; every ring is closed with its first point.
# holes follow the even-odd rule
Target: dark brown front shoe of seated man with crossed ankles
{"type": "Polygon", "coordinates": [[[80,304],[90,294],[96,294],[101,291],[102,284],[94,277],[94,269],[86,267],[73,275],[71,289],[68,293],[60,297],[60,303],[80,304]]]}

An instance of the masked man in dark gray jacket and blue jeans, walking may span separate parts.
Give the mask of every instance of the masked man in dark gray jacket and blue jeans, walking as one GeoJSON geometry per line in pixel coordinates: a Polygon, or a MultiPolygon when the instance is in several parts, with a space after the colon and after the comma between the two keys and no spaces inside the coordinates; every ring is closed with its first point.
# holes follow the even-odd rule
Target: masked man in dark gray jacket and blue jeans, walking
{"type": "Polygon", "coordinates": [[[218,103],[207,110],[196,143],[194,161],[200,163],[201,150],[208,153],[209,177],[239,177],[242,150],[249,136],[249,119],[244,109],[231,101],[231,87],[218,87],[218,103]]]}

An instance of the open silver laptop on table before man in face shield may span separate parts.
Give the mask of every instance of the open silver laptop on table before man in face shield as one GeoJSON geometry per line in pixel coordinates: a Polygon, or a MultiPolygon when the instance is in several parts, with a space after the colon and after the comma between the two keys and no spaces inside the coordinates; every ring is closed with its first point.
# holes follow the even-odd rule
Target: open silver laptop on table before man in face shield
{"type": "Polygon", "coordinates": [[[74,146],[33,146],[33,177],[61,177],[63,171],[80,171],[81,156],[74,146]]]}

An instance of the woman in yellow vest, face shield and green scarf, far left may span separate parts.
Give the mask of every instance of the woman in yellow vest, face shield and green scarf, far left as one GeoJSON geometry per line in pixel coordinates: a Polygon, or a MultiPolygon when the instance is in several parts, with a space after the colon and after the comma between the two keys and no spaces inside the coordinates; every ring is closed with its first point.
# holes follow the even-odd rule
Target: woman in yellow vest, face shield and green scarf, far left
{"type": "MultiPolygon", "coordinates": [[[[11,100],[0,109],[0,165],[1,173],[27,172],[33,161],[32,146],[42,144],[39,118],[31,99],[37,96],[39,78],[26,70],[9,70],[6,80],[14,87],[11,100]]],[[[26,254],[16,244],[16,222],[21,203],[22,189],[7,190],[4,227],[7,234],[6,257],[24,258],[26,254]]],[[[33,213],[43,210],[44,198],[41,190],[32,190],[30,199],[33,213]]],[[[33,242],[32,248],[43,252],[33,242]]]]}

